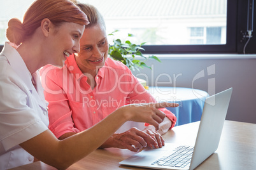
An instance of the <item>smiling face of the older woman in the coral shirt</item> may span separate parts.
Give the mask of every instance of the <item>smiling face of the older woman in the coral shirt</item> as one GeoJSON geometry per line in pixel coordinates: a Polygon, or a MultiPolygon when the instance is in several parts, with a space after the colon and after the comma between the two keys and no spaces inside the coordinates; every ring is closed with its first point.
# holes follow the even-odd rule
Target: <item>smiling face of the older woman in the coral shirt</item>
{"type": "Polygon", "coordinates": [[[108,57],[108,40],[106,30],[99,24],[85,28],[80,41],[80,53],[76,55],[76,63],[83,73],[93,76],[104,66],[108,57]]]}

